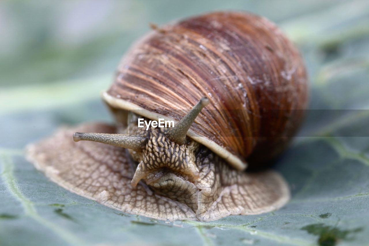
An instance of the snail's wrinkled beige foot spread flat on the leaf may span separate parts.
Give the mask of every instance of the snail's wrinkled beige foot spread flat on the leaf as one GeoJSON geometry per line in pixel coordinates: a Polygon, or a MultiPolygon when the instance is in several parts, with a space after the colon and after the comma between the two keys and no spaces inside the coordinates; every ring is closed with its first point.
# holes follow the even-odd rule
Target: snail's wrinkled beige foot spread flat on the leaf
{"type": "MultiPolygon", "coordinates": [[[[236,171],[190,139],[182,146],[165,138],[158,141],[159,129],[142,134],[151,136],[151,144],[183,148],[184,162],[160,161],[155,151],[147,152],[150,141],[137,151],[90,141],[75,143],[72,135],[76,131],[117,133],[106,124],[62,128],[29,145],[28,160],[62,187],[123,212],[171,221],[211,221],[227,215],[269,212],[289,199],[288,187],[276,172],[236,171]],[[134,187],[131,180],[139,161],[144,163],[146,175],[134,187]],[[184,165],[194,165],[199,175],[183,173],[184,165]]],[[[134,128],[130,131],[137,133],[134,128]]]]}

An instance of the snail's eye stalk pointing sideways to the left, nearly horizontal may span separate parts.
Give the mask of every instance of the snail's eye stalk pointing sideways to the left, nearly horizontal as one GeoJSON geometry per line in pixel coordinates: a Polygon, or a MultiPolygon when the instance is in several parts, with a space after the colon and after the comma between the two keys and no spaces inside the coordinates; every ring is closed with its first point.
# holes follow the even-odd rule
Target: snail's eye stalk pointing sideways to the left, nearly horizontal
{"type": "Polygon", "coordinates": [[[73,134],[75,142],[81,140],[110,144],[117,147],[138,150],[146,145],[147,139],[131,134],[109,134],[109,133],[80,133],[73,134]]]}

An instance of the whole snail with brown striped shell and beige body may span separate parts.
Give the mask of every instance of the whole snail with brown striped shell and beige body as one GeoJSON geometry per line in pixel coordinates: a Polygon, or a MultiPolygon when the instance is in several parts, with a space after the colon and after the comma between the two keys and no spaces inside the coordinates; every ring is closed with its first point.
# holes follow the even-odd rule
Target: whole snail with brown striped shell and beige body
{"type": "Polygon", "coordinates": [[[269,212],[290,195],[265,167],[299,128],[307,91],[302,58],[275,24],[206,13],[153,26],[124,56],[102,94],[115,126],[64,127],[30,144],[27,157],[62,187],[131,214],[269,212]]]}

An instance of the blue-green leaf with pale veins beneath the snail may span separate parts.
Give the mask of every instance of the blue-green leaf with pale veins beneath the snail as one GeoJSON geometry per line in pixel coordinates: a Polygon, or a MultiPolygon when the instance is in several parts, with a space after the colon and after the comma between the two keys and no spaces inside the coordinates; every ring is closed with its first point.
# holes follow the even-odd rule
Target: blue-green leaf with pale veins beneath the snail
{"type": "MultiPolygon", "coordinates": [[[[132,13],[144,11],[142,2],[148,6],[145,10],[151,10],[150,18],[159,23],[174,18],[176,13],[189,16],[210,10],[205,3],[197,5],[197,1],[173,3],[170,6],[174,12],[168,11],[168,1],[155,1],[155,4],[140,1],[142,6],[133,5],[132,13]],[[162,14],[159,11],[162,8],[168,13],[162,14]]],[[[111,122],[99,93],[108,87],[113,75],[93,74],[76,80],[67,79],[73,76],[61,76],[63,69],[71,75],[76,64],[86,61],[72,59],[77,55],[63,57],[61,54],[69,49],[56,49],[60,44],[50,43],[52,38],[42,48],[43,43],[37,41],[38,32],[32,36],[32,42],[25,40],[23,49],[10,60],[11,54],[0,57],[1,64],[18,61],[20,54],[26,55],[25,62],[35,59],[31,68],[19,71],[16,78],[24,81],[17,85],[25,84],[32,69],[38,69],[34,78],[39,79],[23,87],[11,86],[12,81],[4,82],[6,88],[0,92],[0,245],[366,245],[369,242],[367,2],[296,1],[288,2],[285,7],[290,8],[281,11],[275,8],[283,1],[278,4],[258,1],[254,5],[236,1],[232,6],[227,2],[214,1],[211,9],[239,7],[279,20],[306,60],[311,81],[311,110],[298,137],[273,167],[289,183],[291,201],[275,212],[261,215],[228,216],[211,222],[165,222],[116,211],[49,181],[25,160],[24,146],[51,134],[62,124],[111,122]],[[299,4],[304,4],[304,8],[299,4]],[[31,52],[34,43],[38,44],[36,50],[42,51],[41,55],[31,52]],[[45,60],[42,54],[50,50],[55,54],[45,60]],[[41,66],[46,63],[50,63],[48,71],[41,66]],[[65,66],[60,69],[60,64],[65,66]],[[48,78],[63,80],[52,82],[48,78]]],[[[8,4],[7,8],[16,12],[19,6],[23,5],[17,2],[8,4]]],[[[54,8],[50,11],[56,13],[54,8]]],[[[32,11],[45,10],[33,6],[32,11]]],[[[132,13],[132,20],[139,23],[132,13]]],[[[16,17],[28,18],[21,14],[16,17]]],[[[40,20],[37,23],[40,25],[40,20]]],[[[33,28],[37,29],[37,25],[33,28]]],[[[139,24],[136,27],[142,28],[139,24]]],[[[124,27],[117,25],[109,30],[108,37],[115,37],[114,31],[127,31],[127,28],[127,23],[124,27]]],[[[106,38],[88,43],[93,44],[93,49],[107,45],[106,38]]],[[[127,43],[123,48],[127,48],[127,43]]],[[[114,45],[114,49],[120,49],[110,58],[108,54],[104,56],[111,64],[118,62],[114,60],[115,53],[122,49],[118,43],[114,45]]],[[[78,48],[72,45],[68,54],[78,48]]],[[[87,57],[100,59],[101,54],[95,53],[87,57]]],[[[86,69],[85,65],[78,68],[86,69]]],[[[113,69],[108,68],[103,74],[113,69]]],[[[1,75],[13,78],[16,72],[2,69],[1,75]]]]}

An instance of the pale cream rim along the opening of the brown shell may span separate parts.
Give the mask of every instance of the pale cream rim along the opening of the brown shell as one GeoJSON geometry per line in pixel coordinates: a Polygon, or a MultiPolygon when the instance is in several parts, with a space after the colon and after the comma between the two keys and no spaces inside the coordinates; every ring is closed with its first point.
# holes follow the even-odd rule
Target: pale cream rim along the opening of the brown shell
{"type": "MultiPolygon", "coordinates": [[[[159,115],[157,113],[150,112],[142,107],[137,106],[134,103],[131,103],[129,101],[126,101],[121,98],[116,98],[112,95],[110,95],[107,91],[103,91],[101,93],[101,97],[103,100],[111,107],[116,109],[124,109],[124,110],[130,110],[133,113],[137,113],[141,116],[144,116],[151,120],[158,120],[160,118],[164,118],[165,120],[174,120],[169,117],[159,115]]],[[[201,104],[205,103],[205,106],[210,103],[209,99],[207,97],[201,98],[201,104]]],[[[175,120],[174,120],[175,121],[175,120]]],[[[176,122],[176,121],[175,121],[176,122]]],[[[197,141],[200,144],[203,144],[204,146],[208,147],[211,151],[213,151],[215,154],[218,154],[218,156],[222,157],[225,161],[227,161],[232,167],[239,171],[243,171],[247,168],[247,163],[245,160],[242,160],[241,157],[232,154],[230,151],[225,150],[222,146],[215,143],[212,140],[206,139],[204,136],[201,136],[197,133],[195,133],[193,130],[187,131],[187,136],[191,139],[197,141]]]]}

